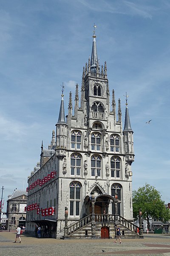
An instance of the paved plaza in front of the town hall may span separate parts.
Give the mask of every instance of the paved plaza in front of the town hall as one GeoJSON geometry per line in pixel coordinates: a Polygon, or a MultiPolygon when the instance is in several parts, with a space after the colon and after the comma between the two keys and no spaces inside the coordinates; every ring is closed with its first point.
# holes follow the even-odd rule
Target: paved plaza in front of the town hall
{"type": "Polygon", "coordinates": [[[96,256],[96,255],[140,255],[170,256],[170,236],[145,234],[144,239],[37,239],[21,236],[13,243],[16,233],[0,232],[0,256],[96,256]],[[104,250],[104,252],[102,252],[104,250]]]}

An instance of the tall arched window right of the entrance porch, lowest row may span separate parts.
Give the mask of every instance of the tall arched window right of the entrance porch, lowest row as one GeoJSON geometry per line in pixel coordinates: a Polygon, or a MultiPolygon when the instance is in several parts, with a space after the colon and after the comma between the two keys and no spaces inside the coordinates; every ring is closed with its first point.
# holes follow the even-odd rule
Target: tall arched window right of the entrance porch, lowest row
{"type": "MultiPolygon", "coordinates": [[[[117,199],[119,200],[117,203],[117,213],[121,215],[121,202],[122,202],[122,186],[119,183],[114,183],[111,186],[111,195],[114,197],[115,193],[117,193],[117,199]]],[[[115,204],[112,203],[112,214],[115,214],[115,204]]]]}

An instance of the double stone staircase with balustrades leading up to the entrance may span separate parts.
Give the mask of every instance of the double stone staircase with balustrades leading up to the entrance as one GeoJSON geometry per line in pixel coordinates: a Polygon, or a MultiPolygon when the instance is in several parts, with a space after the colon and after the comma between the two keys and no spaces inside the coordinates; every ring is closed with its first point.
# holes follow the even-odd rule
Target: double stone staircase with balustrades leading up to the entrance
{"type": "MultiPolygon", "coordinates": [[[[109,228],[109,238],[115,238],[115,216],[112,214],[94,214],[95,221],[92,221],[92,214],[74,222],[67,227],[68,236],[63,238],[71,239],[91,239],[92,237],[92,223],[95,223],[95,238],[101,239],[101,228],[109,228]]],[[[93,217],[94,217],[93,215],[93,217]]],[[[93,218],[94,220],[94,218],[93,218]]],[[[116,224],[119,224],[121,230],[121,238],[140,238],[140,229],[132,222],[126,220],[118,215],[116,224]]]]}

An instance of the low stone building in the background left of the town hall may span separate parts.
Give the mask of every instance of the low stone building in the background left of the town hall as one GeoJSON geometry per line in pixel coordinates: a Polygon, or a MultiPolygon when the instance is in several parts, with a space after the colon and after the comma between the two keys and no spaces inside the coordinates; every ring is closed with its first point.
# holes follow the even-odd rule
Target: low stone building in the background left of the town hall
{"type": "Polygon", "coordinates": [[[6,215],[8,218],[8,229],[14,230],[17,225],[26,225],[27,192],[14,190],[12,195],[8,195],[6,215]]]}

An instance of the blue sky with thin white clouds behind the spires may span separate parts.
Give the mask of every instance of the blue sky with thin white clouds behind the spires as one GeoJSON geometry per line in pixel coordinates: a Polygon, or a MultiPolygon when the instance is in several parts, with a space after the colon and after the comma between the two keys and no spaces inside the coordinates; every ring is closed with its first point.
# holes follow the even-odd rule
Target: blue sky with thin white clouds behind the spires
{"type": "MultiPolygon", "coordinates": [[[[170,1],[1,0],[0,187],[26,189],[58,120],[61,84],[82,80],[96,28],[116,103],[125,93],[134,131],[133,189],[149,183],[170,202],[170,1]],[[146,122],[152,119],[151,124],[146,122]]],[[[116,104],[118,105],[118,104],[116,104]]]]}

